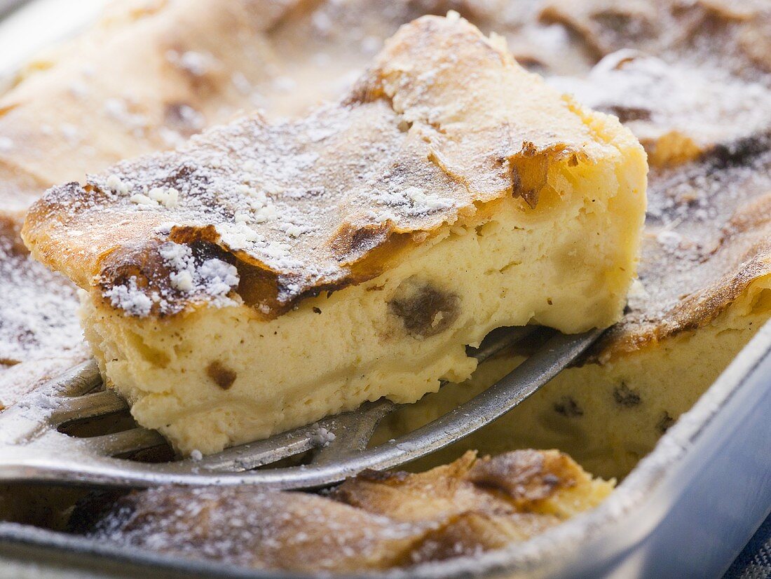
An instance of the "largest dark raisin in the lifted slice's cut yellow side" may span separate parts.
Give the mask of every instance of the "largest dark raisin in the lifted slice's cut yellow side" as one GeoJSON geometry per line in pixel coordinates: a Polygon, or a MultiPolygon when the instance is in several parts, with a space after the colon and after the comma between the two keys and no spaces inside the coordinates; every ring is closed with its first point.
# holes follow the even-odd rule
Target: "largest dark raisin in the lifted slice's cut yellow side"
{"type": "Polygon", "coordinates": [[[458,318],[460,298],[432,284],[409,278],[399,284],[389,311],[402,319],[409,335],[426,338],[444,332],[458,318]]]}

